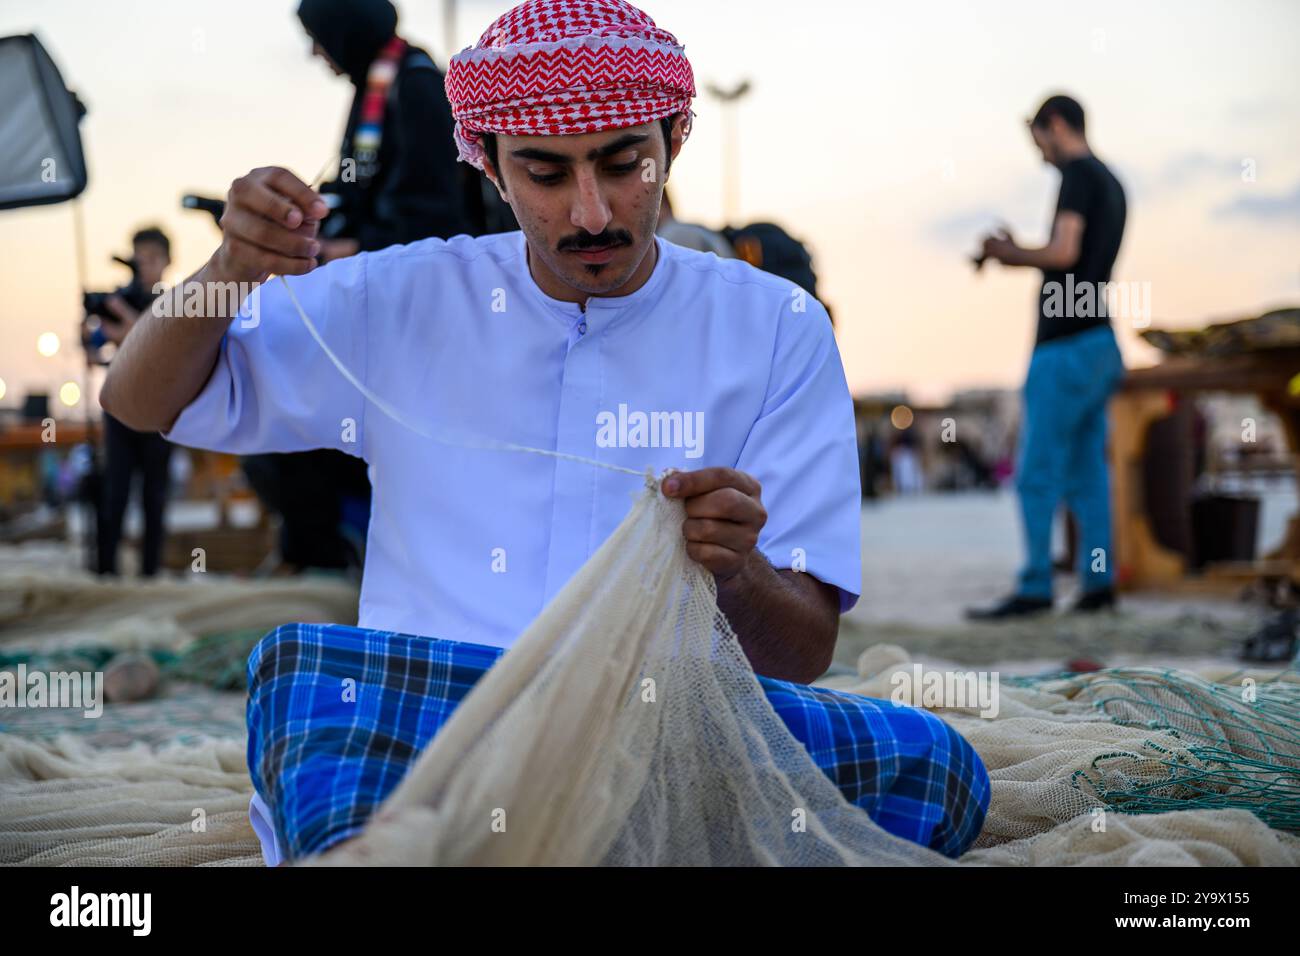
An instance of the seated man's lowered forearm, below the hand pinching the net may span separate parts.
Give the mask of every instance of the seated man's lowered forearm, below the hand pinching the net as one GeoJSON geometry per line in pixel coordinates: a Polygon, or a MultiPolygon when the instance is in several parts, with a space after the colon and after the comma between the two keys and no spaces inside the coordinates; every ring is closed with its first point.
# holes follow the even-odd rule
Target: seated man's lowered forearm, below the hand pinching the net
{"type": "Polygon", "coordinates": [[[754,671],[807,683],[826,672],[838,633],[835,589],[798,571],[777,571],[749,553],[745,568],[718,585],[718,606],[754,671]]]}

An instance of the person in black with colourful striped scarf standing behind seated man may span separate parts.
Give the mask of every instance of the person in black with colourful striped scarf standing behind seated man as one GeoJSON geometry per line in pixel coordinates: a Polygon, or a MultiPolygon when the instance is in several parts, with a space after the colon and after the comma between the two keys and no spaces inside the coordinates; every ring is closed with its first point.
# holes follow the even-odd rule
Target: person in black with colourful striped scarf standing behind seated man
{"type": "MultiPolygon", "coordinates": [[[[330,213],[320,261],[425,238],[515,229],[510,207],[456,161],[443,73],[398,35],[389,0],[303,0],[312,53],[355,87],[338,176],[320,187],[330,213]]],[[[360,458],[318,450],[250,455],[243,471],[280,514],[273,574],[360,567],[370,483],[360,458]]]]}

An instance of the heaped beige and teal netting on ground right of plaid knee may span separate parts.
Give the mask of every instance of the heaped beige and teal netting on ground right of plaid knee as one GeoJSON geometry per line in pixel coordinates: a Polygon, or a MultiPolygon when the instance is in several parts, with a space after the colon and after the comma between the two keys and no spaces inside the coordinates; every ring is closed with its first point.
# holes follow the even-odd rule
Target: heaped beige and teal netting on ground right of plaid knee
{"type": "MultiPolygon", "coordinates": [[[[896,680],[913,672],[897,646],[871,648],[858,670],[818,683],[884,700],[918,687],[896,680]]],[[[901,701],[922,704],[906,692],[901,701]]],[[[976,706],[928,709],[970,741],[992,783],[962,864],[1300,865],[1300,839],[1245,809],[1275,809],[1279,797],[1283,812],[1300,809],[1300,713],[1254,714],[1225,685],[1156,667],[1002,683],[993,718],[976,706]],[[1108,809],[1117,801],[1128,812],[1108,809]],[[1152,812],[1156,801],[1164,812],[1152,812]],[[1232,809],[1178,809],[1206,804],[1232,809]]]]}

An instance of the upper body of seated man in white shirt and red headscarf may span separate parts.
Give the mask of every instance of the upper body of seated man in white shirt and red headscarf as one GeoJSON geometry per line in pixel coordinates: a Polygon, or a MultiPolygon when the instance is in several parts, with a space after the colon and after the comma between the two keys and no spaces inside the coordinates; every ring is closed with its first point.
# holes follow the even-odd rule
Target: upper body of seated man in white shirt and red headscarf
{"type": "Polygon", "coordinates": [[[230,189],[221,246],[140,319],[100,402],[182,445],[361,457],[373,503],[359,624],[495,646],[599,548],[642,481],[476,441],[677,468],[663,493],[684,499],[688,553],[714,574],[755,671],[809,682],[861,585],[853,406],[827,312],[789,281],[655,237],[689,135],[689,64],[644,13],[602,0],[629,25],[578,38],[614,57],[608,77],[584,78],[566,68],[576,46],[571,21],[546,14],[556,5],[515,8],[447,73],[462,157],[520,232],[318,267],[320,196],[256,169],[230,189]],[[493,72],[512,51],[537,66],[532,99],[517,74],[493,72]],[[595,107],[575,111],[592,90],[595,107]],[[368,392],[465,441],[420,437],[363,397],[278,281],[238,313],[221,295],[185,298],[277,273],[368,392]]]}

